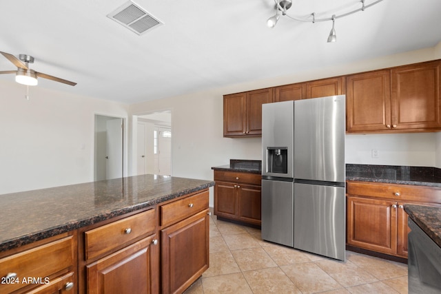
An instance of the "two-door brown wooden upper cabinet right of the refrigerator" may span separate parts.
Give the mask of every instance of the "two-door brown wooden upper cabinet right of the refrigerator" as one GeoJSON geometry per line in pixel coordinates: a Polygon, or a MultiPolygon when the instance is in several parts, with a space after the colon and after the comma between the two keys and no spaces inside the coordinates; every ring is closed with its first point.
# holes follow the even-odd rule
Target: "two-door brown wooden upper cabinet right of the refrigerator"
{"type": "Polygon", "coordinates": [[[441,129],[440,66],[432,61],[347,76],[347,132],[441,129]]]}

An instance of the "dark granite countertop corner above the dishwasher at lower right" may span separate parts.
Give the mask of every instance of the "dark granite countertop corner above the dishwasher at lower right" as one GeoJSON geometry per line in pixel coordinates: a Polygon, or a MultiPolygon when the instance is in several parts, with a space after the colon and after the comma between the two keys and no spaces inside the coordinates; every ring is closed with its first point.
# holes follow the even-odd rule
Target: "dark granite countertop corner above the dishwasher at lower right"
{"type": "Polygon", "coordinates": [[[441,247],[441,207],[404,204],[404,211],[433,242],[441,247]]]}

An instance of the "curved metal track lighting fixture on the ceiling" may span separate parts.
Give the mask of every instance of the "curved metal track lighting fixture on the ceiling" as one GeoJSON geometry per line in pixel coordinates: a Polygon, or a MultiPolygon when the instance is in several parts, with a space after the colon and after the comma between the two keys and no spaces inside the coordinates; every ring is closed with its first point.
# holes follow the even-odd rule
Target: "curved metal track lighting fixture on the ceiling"
{"type": "Polygon", "coordinates": [[[313,12],[313,13],[310,14],[311,18],[305,19],[305,18],[302,18],[302,17],[293,17],[293,16],[290,16],[290,15],[287,14],[287,10],[289,8],[291,8],[292,0],[274,0],[274,2],[276,2],[276,6],[275,6],[276,15],[274,15],[274,17],[270,17],[268,19],[267,25],[269,26],[269,28],[274,28],[274,26],[276,25],[278,19],[280,18],[280,14],[278,14],[279,10],[282,12],[282,15],[284,15],[286,17],[289,17],[290,19],[294,19],[295,21],[304,21],[304,22],[307,22],[307,23],[316,23],[318,21],[332,21],[332,30],[331,30],[331,32],[329,32],[328,42],[329,43],[333,43],[333,42],[337,41],[336,30],[334,28],[336,19],[340,19],[342,17],[347,17],[348,15],[354,14],[354,13],[359,12],[359,11],[365,11],[366,8],[374,6],[377,3],[380,3],[381,1],[383,1],[383,0],[376,0],[376,1],[372,2],[371,4],[365,6],[365,0],[361,0],[360,1],[361,2],[361,8],[358,8],[356,10],[352,10],[352,11],[347,12],[345,14],[341,14],[341,15],[333,14],[332,17],[328,17],[328,18],[325,18],[325,19],[316,19],[316,12],[313,12]]]}

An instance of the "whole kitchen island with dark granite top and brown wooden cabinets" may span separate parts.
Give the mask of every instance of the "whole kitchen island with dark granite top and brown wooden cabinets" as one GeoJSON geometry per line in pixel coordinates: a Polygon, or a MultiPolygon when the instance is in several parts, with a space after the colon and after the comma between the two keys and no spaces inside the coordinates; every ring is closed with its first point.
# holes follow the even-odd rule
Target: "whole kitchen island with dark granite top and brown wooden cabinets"
{"type": "Polygon", "coordinates": [[[213,185],[143,175],[1,195],[0,293],[98,293],[115,283],[120,293],[182,292],[208,268],[213,185]],[[180,269],[185,242],[198,258],[192,272],[180,269]]]}

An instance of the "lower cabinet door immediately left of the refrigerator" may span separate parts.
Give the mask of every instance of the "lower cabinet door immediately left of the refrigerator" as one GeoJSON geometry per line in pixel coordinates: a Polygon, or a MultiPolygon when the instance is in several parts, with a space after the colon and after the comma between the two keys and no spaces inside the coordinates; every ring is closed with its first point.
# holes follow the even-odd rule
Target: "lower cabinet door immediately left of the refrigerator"
{"type": "Polygon", "coordinates": [[[238,219],[252,224],[261,223],[262,189],[254,185],[238,185],[238,219]]]}

